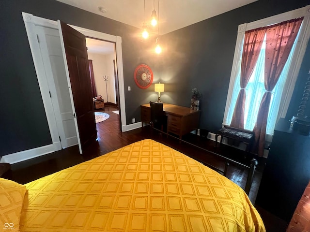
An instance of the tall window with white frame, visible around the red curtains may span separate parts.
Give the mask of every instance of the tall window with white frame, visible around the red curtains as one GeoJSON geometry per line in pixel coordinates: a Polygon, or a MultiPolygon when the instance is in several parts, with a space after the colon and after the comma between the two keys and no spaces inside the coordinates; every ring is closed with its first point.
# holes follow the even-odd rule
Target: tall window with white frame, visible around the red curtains
{"type": "MultiPolygon", "coordinates": [[[[292,11],[295,14],[292,14],[292,12],[284,13],[269,17],[267,19],[259,20],[253,23],[239,25],[239,32],[237,37],[235,55],[233,60],[233,69],[232,69],[229,92],[227,96],[223,124],[230,125],[237,96],[240,91],[240,72],[241,72],[240,70],[241,70],[243,38],[245,31],[259,27],[265,27],[267,25],[272,25],[275,23],[286,21],[291,18],[304,16],[302,15],[304,14],[304,11],[298,14],[297,12],[298,10],[292,11]]],[[[306,26],[308,25],[308,23],[309,23],[309,16],[304,17],[304,21],[298,32],[290,56],[285,64],[285,67],[281,73],[281,76],[279,78],[276,87],[273,89],[272,99],[269,107],[267,129],[266,129],[267,135],[273,134],[274,127],[279,117],[285,117],[286,115],[288,104],[290,103],[290,99],[294,90],[295,79],[297,77],[301,60],[305,52],[306,48],[305,44],[309,39],[309,34],[307,34],[309,32],[306,33],[306,30],[309,30],[307,29],[306,26]]],[[[244,128],[247,130],[253,130],[255,126],[261,99],[263,93],[265,92],[264,74],[263,74],[264,54],[265,54],[265,41],[263,42],[257,64],[254,68],[254,72],[252,73],[248,85],[246,87],[244,128]]],[[[270,141],[270,136],[267,136],[266,140],[270,141]]]]}

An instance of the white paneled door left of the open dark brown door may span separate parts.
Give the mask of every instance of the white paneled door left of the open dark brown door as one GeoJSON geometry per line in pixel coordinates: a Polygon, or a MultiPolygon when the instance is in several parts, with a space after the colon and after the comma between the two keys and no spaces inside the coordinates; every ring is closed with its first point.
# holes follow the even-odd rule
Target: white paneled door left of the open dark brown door
{"type": "Polygon", "coordinates": [[[58,29],[35,26],[62,148],[78,144],[58,29]]]}

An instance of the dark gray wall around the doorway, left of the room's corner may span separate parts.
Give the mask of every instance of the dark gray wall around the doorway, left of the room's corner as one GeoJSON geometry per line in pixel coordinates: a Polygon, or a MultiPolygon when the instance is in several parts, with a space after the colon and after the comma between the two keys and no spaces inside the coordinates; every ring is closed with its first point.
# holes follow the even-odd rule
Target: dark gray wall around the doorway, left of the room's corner
{"type": "Polygon", "coordinates": [[[121,36],[125,87],[132,87],[125,91],[127,123],[139,119],[148,92],[135,87],[133,73],[141,63],[152,67],[144,52],[149,44],[137,39],[139,29],[55,0],[0,0],[0,155],[51,143],[21,12],[121,36]]]}

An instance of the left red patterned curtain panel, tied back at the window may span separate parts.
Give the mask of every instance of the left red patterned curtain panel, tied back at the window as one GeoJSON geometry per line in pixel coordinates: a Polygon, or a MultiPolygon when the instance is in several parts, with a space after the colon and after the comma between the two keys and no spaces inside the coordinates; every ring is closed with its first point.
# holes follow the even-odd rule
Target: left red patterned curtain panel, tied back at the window
{"type": "Polygon", "coordinates": [[[233,110],[233,118],[231,122],[231,126],[235,128],[244,129],[244,107],[246,102],[245,88],[248,85],[248,80],[253,73],[257,59],[261,52],[265,32],[265,28],[258,28],[248,30],[245,33],[241,60],[241,89],[239,91],[237,102],[233,110]]]}

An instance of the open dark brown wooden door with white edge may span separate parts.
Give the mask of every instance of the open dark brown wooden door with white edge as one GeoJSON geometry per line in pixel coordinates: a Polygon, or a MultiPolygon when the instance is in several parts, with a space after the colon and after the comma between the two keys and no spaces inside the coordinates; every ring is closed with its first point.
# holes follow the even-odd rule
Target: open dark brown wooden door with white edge
{"type": "Polygon", "coordinates": [[[85,36],[58,20],[80,153],[97,138],[85,36]]]}

